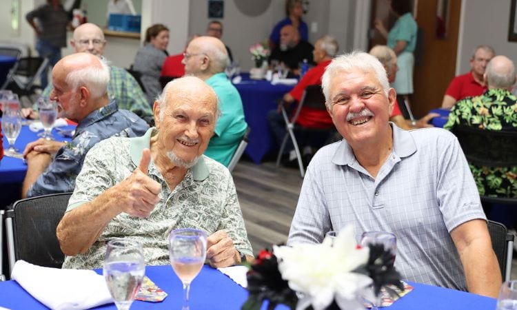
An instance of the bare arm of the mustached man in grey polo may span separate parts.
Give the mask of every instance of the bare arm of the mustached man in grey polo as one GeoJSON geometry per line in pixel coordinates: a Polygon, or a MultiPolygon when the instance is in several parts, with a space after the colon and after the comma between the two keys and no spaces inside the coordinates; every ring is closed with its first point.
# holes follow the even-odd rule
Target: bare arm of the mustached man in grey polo
{"type": "Polygon", "coordinates": [[[497,298],[501,273],[485,220],[469,220],[451,231],[471,293],[497,298]]]}

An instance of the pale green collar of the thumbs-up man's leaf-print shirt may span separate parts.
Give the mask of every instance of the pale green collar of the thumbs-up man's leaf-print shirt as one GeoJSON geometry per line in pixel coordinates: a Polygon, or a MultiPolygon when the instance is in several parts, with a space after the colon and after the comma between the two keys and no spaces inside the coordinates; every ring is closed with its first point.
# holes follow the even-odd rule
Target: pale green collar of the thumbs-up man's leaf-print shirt
{"type": "MultiPolygon", "coordinates": [[[[147,132],[145,132],[143,136],[131,138],[130,157],[131,161],[136,167],[139,166],[140,160],[142,158],[143,149],[145,149],[146,147],[150,148],[151,137],[156,134],[158,134],[158,130],[156,129],[156,127],[151,127],[148,129],[147,132]]],[[[154,163],[152,163],[152,160],[150,165],[154,165],[154,163]]],[[[196,165],[189,169],[189,172],[192,173],[192,178],[194,178],[194,180],[196,181],[202,181],[208,177],[210,171],[208,170],[208,167],[205,163],[204,156],[201,156],[199,158],[196,165]]]]}

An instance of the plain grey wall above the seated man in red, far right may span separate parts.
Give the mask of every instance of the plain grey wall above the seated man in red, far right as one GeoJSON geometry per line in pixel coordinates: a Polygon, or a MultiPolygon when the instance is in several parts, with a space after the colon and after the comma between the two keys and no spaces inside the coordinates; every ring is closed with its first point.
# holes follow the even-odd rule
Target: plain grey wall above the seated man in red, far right
{"type": "Polygon", "coordinates": [[[517,61],[517,42],[508,41],[510,1],[463,0],[461,6],[456,74],[470,70],[472,50],[480,44],[517,61]]]}

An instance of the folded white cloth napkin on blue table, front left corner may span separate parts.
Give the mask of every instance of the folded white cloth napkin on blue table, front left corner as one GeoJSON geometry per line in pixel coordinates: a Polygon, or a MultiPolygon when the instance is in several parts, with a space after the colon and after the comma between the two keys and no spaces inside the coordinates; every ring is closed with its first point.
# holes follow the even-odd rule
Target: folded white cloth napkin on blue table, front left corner
{"type": "Polygon", "coordinates": [[[104,277],[92,270],[41,267],[18,260],[11,278],[50,309],[90,309],[113,302],[104,277]]]}

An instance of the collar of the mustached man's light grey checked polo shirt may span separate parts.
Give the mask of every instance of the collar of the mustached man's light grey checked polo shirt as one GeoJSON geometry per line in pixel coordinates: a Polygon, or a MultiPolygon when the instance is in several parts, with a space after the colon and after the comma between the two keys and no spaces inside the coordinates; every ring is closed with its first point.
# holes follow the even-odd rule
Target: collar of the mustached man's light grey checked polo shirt
{"type": "MultiPolygon", "coordinates": [[[[402,130],[397,127],[394,123],[389,122],[392,126],[393,132],[393,152],[399,158],[408,157],[416,152],[416,144],[412,134],[409,134],[406,130],[402,130]]],[[[332,163],[335,165],[350,165],[356,162],[356,156],[352,147],[343,139],[332,158],[332,163]]]]}

